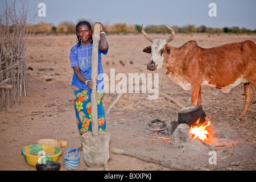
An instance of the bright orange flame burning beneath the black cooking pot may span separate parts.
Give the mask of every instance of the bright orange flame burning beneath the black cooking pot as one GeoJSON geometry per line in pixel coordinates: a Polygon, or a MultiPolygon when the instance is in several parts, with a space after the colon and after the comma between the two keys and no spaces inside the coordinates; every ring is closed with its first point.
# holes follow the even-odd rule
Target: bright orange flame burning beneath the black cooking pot
{"type": "Polygon", "coordinates": [[[196,121],[195,125],[190,127],[190,134],[192,138],[199,138],[201,140],[209,139],[209,131],[207,127],[210,126],[210,120],[205,117],[205,122],[199,125],[200,118],[196,121]]]}

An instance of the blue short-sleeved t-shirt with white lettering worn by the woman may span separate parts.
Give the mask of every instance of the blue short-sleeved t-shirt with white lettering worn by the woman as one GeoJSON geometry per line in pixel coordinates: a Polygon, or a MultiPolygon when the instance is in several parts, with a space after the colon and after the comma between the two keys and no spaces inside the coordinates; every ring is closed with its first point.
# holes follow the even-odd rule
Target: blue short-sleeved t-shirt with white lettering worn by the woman
{"type": "MultiPolygon", "coordinates": [[[[92,76],[92,44],[88,46],[79,46],[78,44],[73,46],[70,51],[69,59],[71,61],[71,68],[79,66],[82,75],[85,76],[87,80],[91,80],[92,76]]],[[[101,52],[100,46],[98,48],[98,78],[97,78],[97,90],[101,90],[104,88],[103,81],[103,69],[101,65],[101,53],[106,55],[108,53],[108,49],[104,52],[101,52]]],[[[81,82],[73,73],[72,84],[77,88],[84,90],[92,90],[88,86],[86,86],[83,82],[81,82]]]]}

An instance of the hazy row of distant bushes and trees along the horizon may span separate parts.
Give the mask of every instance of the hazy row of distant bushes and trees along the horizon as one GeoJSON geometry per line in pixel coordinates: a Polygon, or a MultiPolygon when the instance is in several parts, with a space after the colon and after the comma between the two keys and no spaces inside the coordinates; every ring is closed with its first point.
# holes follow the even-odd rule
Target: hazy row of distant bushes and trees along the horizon
{"type": "MultiPolygon", "coordinates": [[[[86,20],[86,19],[80,19],[80,20],[86,20]]],[[[78,20],[77,22],[79,22],[78,20]]],[[[93,22],[92,20],[87,20],[92,25],[92,31],[93,31],[93,22]]],[[[139,24],[126,24],[126,23],[115,23],[113,25],[110,25],[109,22],[106,24],[103,24],[104,30],[106,33],[110,34],[127,34],[127,33],[138,33],[141,32],[141,25],[139,24]]],[[[255,33],[256,30],[249,30],[245,27],[239,28],[237,26],[234,26],[232,28],[224,27],[224,28],[212,28],[212,27],[206,27],[205,25],[201,25],[200,27],[195,27],[195,25],[188,24],[187,26],[179,27],[179,26],[171,26],[172,29],[174,29],[175,33],[185,33],[190,34],[194,32],[207,32],[208,34],[220,34],[221,32],[224,33],[234,33],[234,34],[242,34],[242,33],[255,33]]],[[[147,33],[151,34],[169,34],[170,31],[168,28],[164,25],[154,25],[151,24],[149,26],[143,27],[144,30],[147,33]]],[[[48,33],[48,32],[62,32],[65,34],[75,34],[76,31],[76,24],[73,22],[62,22],[57,27],[51,26],[51,24],[48,24],[46,22],[39,22],[33,27],[33,31],[38,33],[48,33]]]]}

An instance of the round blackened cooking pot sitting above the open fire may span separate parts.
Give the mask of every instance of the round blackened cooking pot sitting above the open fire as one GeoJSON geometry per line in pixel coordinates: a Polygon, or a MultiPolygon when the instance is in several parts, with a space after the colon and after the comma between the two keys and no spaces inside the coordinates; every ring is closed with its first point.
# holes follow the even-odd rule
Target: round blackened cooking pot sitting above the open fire
{"type": "Polygon", "coordinates": [[[199,123],[205,122],[206,114],[201,105],[189,106],[183,109],[180,109],[178,112],[178,122],[179,124],[185,123],[189,126],[196,123],[196,121],[200,118],[199,123]]]}

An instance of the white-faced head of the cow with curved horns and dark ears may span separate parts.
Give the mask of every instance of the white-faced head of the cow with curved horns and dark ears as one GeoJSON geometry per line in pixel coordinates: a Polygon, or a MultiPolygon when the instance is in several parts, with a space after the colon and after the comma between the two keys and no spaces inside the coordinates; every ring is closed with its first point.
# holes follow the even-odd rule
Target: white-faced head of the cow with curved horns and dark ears
{"type": "MultiPolygon", "coordinates": [[[[142,24],[143,26],[143,24],[142,24]]],[[[158,68],[163,67],[164,57],[170,55],[170,47],[167,46],[168,43],[174,39],[175,32],[174,30],[166,24],[166,27],[171,31],[171,37],[169,39],[153,39],[151,38],[142,28],[141,32],[150,42],[152,42],[152,46],[148,46],[143,49],[143,52],[151,53],[151,58],[149,63],[147,64],[147,69],[150,71],[155,71],[158,68]]]]}

